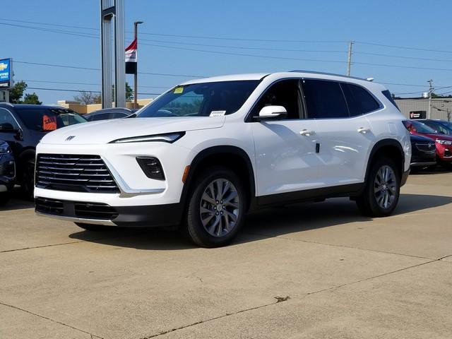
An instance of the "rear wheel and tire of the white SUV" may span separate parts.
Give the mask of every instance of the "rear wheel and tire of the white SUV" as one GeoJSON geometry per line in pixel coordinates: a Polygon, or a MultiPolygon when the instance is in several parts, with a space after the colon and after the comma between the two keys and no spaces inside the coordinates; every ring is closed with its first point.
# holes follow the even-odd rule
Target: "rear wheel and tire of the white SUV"
{"type": "Polygon", "coordinates": [[[364,191],[356,200],[359,211],[369,217],[386,217],[393,213],[399,196],[400,174],[396,164],[388,157],[376,159],[364,191]]]}

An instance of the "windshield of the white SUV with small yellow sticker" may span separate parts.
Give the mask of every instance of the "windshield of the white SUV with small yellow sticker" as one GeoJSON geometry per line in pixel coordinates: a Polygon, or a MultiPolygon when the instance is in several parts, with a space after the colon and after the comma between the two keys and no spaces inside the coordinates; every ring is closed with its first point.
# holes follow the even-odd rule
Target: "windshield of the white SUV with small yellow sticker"
{"type": "Polygon", "coordinates": [[[145,107],[137,117],[214,117],[232,114],[242,107],[259,82],[219,81],[177,86],[145,107]]]}

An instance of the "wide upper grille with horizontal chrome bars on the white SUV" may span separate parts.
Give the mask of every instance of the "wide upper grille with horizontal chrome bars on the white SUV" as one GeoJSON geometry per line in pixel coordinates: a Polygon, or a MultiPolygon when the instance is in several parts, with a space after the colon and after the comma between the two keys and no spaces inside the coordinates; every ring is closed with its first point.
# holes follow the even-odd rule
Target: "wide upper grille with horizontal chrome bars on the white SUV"
{"type": "Polygon", "coordinates": [[[36,186],[57,191],[119,193],[99,155],[39,154],[36,186]]]}

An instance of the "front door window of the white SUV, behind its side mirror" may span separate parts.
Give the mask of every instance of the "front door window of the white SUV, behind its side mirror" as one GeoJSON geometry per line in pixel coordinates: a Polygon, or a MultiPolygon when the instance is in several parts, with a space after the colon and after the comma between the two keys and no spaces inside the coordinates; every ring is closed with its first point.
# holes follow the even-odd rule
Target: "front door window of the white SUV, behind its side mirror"
{"type": "Polygon", "coordinates": [[[258,116],[263,107],[283,106],[287,110],[285,119],[299,119],[298,80],[283,80],[270,86],[253,109],[253,117],[258,116]]]}

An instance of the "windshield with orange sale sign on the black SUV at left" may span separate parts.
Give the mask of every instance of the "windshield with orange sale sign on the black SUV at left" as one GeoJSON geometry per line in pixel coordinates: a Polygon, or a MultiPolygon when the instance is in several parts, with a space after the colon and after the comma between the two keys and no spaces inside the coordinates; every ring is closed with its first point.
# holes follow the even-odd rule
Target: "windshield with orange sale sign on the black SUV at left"
{"type": "Polygon", "coordinates": [[[80,124],[86,122],[86,119],[81,117],[76,112],[70,109],[63,108],[42,108],[42,109],[29,109],[19,108],[16,109],[20,120],[23,121],[28,129],[33,131],[48,132],[60,129],[64,126],[73,124],[80,124]]]}

